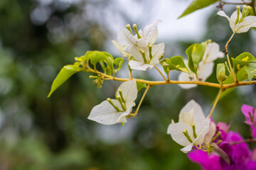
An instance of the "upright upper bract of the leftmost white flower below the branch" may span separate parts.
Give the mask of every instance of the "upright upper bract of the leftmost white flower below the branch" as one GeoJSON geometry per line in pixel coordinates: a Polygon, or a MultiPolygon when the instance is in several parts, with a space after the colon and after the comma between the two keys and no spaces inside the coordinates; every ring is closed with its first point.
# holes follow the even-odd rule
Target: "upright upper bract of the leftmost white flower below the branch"
{"type": "Polygon", "coordinates": [[[129,107],[134,105],[134,101],[136,100],[138,94],[136,80],[133,79],[122,83],[117,89],[117,96],[119,96],[119,89],[122,90],[122,95],[127,106],[127,111],[129,111],[129,107]]]}

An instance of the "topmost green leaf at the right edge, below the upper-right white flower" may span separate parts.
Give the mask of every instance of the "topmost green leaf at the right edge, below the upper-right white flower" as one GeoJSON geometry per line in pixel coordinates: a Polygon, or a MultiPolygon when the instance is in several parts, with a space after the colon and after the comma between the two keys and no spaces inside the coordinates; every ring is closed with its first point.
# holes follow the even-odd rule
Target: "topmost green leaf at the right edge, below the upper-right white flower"
{"type": "Polygon", "coordinates": [[[233,69],[235,74],[245,67],[246,64],[250,62],[256,62],[255,57],[251,55],[249,52],[243,52],[242,54],[238,55],[238,57],[232,58],[233,61],[233,69]]]}

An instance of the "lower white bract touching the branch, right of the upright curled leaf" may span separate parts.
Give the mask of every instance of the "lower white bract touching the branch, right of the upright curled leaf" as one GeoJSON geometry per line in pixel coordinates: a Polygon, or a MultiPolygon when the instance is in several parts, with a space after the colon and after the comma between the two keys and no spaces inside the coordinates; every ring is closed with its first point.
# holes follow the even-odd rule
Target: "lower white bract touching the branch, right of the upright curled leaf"
{"type": "Polygon", "coordinates": [[[198,79],[206,81],[206,79],[213,73],[213,67],[213,62],[208,62],[206,64],[200,63],[198,67],[198,79]]]}

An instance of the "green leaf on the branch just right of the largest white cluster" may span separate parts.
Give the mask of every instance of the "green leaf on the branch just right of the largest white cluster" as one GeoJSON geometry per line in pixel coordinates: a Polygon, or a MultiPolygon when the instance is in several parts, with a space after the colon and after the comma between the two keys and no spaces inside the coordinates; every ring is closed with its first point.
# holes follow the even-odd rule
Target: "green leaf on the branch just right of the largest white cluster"
{"type": "Polygon", "coordinates": [[[163,63],[164,72],[169,74],[171,70],[177,70],[179,72],[188,72],[188,68],[186,64],[183,62],[183,58],[181,56],[174,56],[169,59],[166,59],[163,63]]]}

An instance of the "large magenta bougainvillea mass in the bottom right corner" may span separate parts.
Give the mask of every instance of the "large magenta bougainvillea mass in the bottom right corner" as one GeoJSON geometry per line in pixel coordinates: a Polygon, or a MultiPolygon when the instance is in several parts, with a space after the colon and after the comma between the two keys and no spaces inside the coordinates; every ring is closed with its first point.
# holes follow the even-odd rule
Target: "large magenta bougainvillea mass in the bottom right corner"
{"type": "Polygon", "coordinates": [[[242,142],[243,138],[238,132],[228,132],[228,128],[229,125],[225,123],[217,124],[217,129],[222,133],[222,142],[220,142],[218,146],[228,155],[230,159],[229,164],[224,159],[213,154],[214,152],[208,154],[198,149],[193,149],[193,151],[188,153],[188,158],[191,159],[192,162],[200,164],[202,169],[206,170],[256,169],[254,153],[250,152],[247,143],[242,142]]]}

